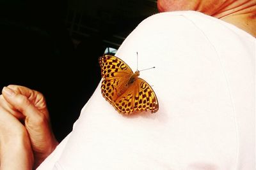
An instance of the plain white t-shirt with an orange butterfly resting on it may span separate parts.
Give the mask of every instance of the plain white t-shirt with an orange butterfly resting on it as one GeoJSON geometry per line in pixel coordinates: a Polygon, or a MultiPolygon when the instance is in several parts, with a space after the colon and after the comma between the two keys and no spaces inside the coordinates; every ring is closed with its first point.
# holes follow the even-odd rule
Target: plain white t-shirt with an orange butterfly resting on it
{"type": "Polygon", "coordinates": [[[255,169],[255,49],[253,36],[202,13],[148,17],[116,56],[133,71],[136,52],[139,70],[156,67],[140,77],[159,111],[120,115],[99,83],[38,169],[255,169]]]}

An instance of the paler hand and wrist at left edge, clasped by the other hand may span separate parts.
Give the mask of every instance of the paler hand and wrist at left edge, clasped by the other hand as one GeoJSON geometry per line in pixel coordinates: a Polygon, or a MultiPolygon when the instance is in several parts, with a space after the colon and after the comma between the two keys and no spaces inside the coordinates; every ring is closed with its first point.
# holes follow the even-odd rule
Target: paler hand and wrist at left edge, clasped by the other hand
{"type": "Polygon", "coordinates": [[[24,125],[6,110],[0,95],[0,169],[32,169],[33,151],[24,125]]]}

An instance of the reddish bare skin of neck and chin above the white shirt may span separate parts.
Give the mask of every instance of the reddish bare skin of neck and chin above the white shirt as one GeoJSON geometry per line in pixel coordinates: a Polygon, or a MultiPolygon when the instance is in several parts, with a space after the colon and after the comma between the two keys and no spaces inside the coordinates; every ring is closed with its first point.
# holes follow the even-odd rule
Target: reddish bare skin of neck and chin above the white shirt
{"type": "Polygon", "coordinates": [[[158,0],[158,10],[179,11],[194,10],[220,18],[256,37],[256,1],[255,0],[158,0]]]}

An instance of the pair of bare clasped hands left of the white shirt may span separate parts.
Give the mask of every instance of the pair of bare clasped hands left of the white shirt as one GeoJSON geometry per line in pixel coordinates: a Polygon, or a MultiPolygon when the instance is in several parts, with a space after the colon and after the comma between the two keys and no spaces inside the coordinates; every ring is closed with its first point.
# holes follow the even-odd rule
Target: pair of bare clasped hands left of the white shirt
{"type": "Polygon", "coordinates": [[[19,85],[4,87],[0,96],[0,117],[3,120],[0,122],[0,137],[4,136],[0,138],[1,169],[9,168],[10,162],[12,166],[19,165],[17,167],[22,164],[22,169],[36,168],[58,145],[51,130],[44,96],[40,92],[19,85]],[[3,145],[6,142],[2,144],[1,141],[9,138],[12,141],[10,145],[3,145]],[[17,148],[10,152],[10,148],[16,148],[15,146],[20,146],[20,150],[17,148]],[[8,152],[3,153],[4,148],[9,148],[8,152]],[[24,153],[30,154],[28,159],[25,159],[24,153]]]}

